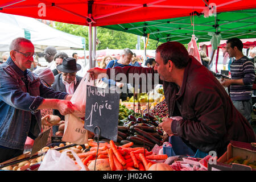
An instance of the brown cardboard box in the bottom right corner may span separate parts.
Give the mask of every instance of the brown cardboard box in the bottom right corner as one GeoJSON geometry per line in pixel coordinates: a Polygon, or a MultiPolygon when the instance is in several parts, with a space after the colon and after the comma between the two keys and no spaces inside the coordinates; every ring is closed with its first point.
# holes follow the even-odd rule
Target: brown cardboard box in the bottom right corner
{"type": "Polygon", "coordinates": [[[209,164],[209,171],[256,171],[243,164],[232,163],[232,165],[225,164],[229,159],[240,156],[242,159],[250,159],[249,163],[256,161],[256,148],[251,143],[230,141],[227,151],[217,159],[217,164],[209,164]]]}

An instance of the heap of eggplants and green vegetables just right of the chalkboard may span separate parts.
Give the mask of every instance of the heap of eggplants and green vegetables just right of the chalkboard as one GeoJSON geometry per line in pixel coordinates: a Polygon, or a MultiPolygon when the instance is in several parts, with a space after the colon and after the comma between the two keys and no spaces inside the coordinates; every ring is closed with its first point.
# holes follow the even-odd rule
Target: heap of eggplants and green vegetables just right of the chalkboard
{"type": "Polygon", "coordinates": [[[118,142],[134,142],[137,146],[152,148],[168,140],[168,135],[158,127],[159,119],[154,115],[133,113],[125,105],[119,105],[118,142]]]}

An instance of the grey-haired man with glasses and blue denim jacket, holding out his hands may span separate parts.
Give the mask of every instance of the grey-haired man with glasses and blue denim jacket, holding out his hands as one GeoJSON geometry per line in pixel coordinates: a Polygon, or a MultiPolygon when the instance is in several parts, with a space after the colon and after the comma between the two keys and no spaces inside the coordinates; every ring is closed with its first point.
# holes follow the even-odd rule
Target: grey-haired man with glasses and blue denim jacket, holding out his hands
{"type": "Polygon", "coordinates": [[[27,137],[42,131],[40,109],[57,109],[70,114],[72,95],[45,86],[29,69],[35,48],[30,40],[16,38],[10,57],[0,65],[0,163],[23,154],[27,137]]]}

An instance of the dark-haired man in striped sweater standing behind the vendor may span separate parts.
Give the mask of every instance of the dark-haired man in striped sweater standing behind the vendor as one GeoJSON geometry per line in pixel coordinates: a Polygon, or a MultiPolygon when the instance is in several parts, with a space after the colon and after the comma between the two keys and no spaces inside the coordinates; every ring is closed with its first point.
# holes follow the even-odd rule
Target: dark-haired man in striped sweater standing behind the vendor
{"type": "Polygon", "coordinates": [[[230,98],[238,111],[251,123],[253,111],[251,90],[255,79],[254,63],[242,52],[243,43],[238,38],[226,42],[229,57],[235,57],[230,65],[231,79],[222,79],[223,86],[230,86],[230,98]]]}

